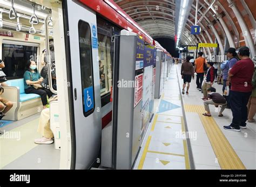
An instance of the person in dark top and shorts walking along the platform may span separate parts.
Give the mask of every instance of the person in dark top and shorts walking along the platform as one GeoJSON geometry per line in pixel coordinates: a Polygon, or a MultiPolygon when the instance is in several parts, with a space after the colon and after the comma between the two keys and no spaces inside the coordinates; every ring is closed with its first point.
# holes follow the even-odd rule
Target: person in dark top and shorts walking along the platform
{"type": "Polygon", "coordinates": [[[190,82],[191,78],[194,78],[194,68],[192,63],[190,62],[191,56],[186,56],[186,61],[181,64],[181,76],[183,78],[183,89],[182,94],[185,93],[185,87],[187,83],[187,91],[186,94],[188,94],[188,89],[190,89],[190,82]]]}

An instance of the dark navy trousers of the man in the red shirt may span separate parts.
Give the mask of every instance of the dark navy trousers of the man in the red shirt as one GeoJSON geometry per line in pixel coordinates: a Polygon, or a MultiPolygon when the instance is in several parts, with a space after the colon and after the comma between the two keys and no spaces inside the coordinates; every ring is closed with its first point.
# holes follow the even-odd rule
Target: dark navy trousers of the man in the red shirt
{"type": "Polygon", "coordinates": [[[232,110],[231,126],[240,128],[239,126],[246,126],[247,120],[247,103],[252,92],[230,91],[230,107],[232,110]]]}

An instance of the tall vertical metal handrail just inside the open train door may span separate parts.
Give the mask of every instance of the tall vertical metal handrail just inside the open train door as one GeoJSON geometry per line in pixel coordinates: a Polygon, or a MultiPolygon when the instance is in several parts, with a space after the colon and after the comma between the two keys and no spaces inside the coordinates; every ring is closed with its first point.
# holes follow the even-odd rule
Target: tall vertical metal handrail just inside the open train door
{"type": "Polygon", "coordinates": [[[47,55],[47,60],[48,63],[48,82],[49,82],[49,89],[51,90],[52,93],[57,94],[57,90],[52,88],[52,76],[51,76],[51,56],[50,56],[50,46],[49,46],[49,35],[48,35],[48,23],[47,20],[48,18],[51,17],[51,15],[48,15],[44,19],[44,25],[45,25],[45,42],[46,42],[46,55],[47,55]]]}

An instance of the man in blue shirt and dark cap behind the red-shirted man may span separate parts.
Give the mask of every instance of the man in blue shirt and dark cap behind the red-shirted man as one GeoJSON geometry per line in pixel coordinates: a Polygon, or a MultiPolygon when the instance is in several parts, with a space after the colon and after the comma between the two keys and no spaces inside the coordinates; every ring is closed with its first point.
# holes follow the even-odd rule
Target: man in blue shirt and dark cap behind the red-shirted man
{"type": "MultiPolygon", "coordinates": [[[[235,63],[237,63],[238,59],[237,59],[237,53],[235,52],[235,48],[231,47],[227,50],[227,57],[228,61],[223,62],[220,66],[221,69],[223,69],[223,92],[226,89],[227,86],[230,87],[231,89],[231,84],[228,78],[228,70],[230,70],[235,63]]],[[[230,103],[228,102],[228,96],[224,96],[227,100],[227,109],[230,109],[230,103]]]]}

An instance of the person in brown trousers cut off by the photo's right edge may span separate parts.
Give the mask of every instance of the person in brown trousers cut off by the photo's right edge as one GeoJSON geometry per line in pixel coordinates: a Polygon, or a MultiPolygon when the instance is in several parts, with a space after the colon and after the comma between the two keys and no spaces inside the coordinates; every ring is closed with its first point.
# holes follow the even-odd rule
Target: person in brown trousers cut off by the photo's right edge
{"type": "Polygon", "coordinates": [[[256,112],[256,68],[254,68],[254,75],[252,78],[252,87],[253,87],[252,95],[250,96],[250,99],[247,104],[249,123],[255,122],[255,119],[253,119],[253,117],[256,112]]]}

